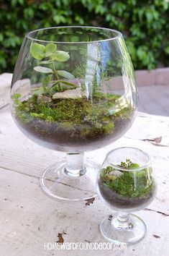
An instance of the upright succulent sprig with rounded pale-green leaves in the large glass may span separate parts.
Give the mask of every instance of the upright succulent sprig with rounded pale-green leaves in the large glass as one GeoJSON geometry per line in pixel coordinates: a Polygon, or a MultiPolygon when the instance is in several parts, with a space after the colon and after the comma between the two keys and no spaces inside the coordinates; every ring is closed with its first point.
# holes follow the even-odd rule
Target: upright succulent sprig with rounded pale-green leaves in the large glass
{"type": "Polygon", "coordinates": [[[41,87],[32,89],[34,95],[44,93],[53,95],[55,92],[68,89],[68,87],[76,88],[76,85],[73,83],[60,79],[60,77],[63,77],[65,79],[72,80],[75,78],[73,74],[70,74],[70,72],[65,70],[57,70],[55,68],[55,61],[68,61],[70,58],[68,52],[58,51],[55,43],[47,43],[46,46],[43,46],[40,43],[32,43],[30,54],[34,59],[39,60],[42,65],[52,64],[52,68],[44,66],[34,67],[36,72],[47,74],[41,82],[41,87]],[[52,80],[53,75],[55,76],[55,80],[52,80]]]}

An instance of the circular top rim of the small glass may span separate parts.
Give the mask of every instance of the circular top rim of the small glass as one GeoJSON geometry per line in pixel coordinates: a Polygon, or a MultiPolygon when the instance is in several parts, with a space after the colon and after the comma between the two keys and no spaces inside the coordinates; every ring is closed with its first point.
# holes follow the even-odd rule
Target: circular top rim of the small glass
{"type": "Polygon", "coordinates": [[[108,161],[108,163],[111,164],[111,166],[113,168],[116,168],[120,171],[142,171],[143,168],[146,168],[148,165],[150,165],[150,156],[143,150],[140,150],[139,148],[134,148],[134,147],[121,147],[121,148],[114,148],[113,150],[109,151],[109,153],[106,154],[106,160],[108,161]],[[111,153],[113,153],[114,151],[117,151],[117,150],[120,150],[120,149],[124,149],[124,148],[129,148],[129,149],[133,149],[133,150],[137,150],[137,151],[140,151],[140,153],[142,153],[143,155],[146,156],[147,158],[147,162],[146,164],[140,166],[140,167],[137,167],[137,168],[125,168],[125,167],[120,167],[120,166],[116,166],[114,165],[113,163],[111,163],[111,161],[109,161],[109,155],[111,153]]]}

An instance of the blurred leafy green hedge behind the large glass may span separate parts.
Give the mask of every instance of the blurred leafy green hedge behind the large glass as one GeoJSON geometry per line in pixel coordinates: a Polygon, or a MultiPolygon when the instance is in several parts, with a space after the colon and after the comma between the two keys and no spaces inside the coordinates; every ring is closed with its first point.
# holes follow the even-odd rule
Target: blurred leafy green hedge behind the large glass
{"type": "Polygon", "coordinates": [[[169,65],[168,0],[0,0],[0,73],[12,72],[24,34],[95,25],[122,31],[135,69],[169,65]]]}

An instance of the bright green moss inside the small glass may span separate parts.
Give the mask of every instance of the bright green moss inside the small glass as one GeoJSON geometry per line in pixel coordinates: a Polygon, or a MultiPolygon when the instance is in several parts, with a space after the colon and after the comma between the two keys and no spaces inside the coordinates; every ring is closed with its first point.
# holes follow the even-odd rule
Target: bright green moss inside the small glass
{"type": "MultiPolygon", "coordinates": [[[[122,162],[120,166],[137,168],[138,164],[132,163],[129,166],[128,163],[122,162]]],[[[155,183],[149,168],[144,168],[141,171],[117,170],[111,166],[103,168],[100,174],[101,184],[106,185],[106,187],[109,187],[109,189],[122,197],[146,198],[150,195],[155,183]]]]}

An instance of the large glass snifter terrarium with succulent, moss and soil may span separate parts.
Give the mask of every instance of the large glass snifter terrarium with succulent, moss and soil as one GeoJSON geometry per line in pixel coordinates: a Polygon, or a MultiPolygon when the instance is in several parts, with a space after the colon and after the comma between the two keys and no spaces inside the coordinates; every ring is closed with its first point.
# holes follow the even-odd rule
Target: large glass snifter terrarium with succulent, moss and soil
{"type": "Polygon", "coordinates": [[[50,27],[28,33],[11,89],[12,116],[37,144],[64,151],[66,161],[42,174],[51,197],[96,196],[97,163],[85,151],[122,137],[134,120],[137,89],[122,33],[101,27],[50,27]]]}

